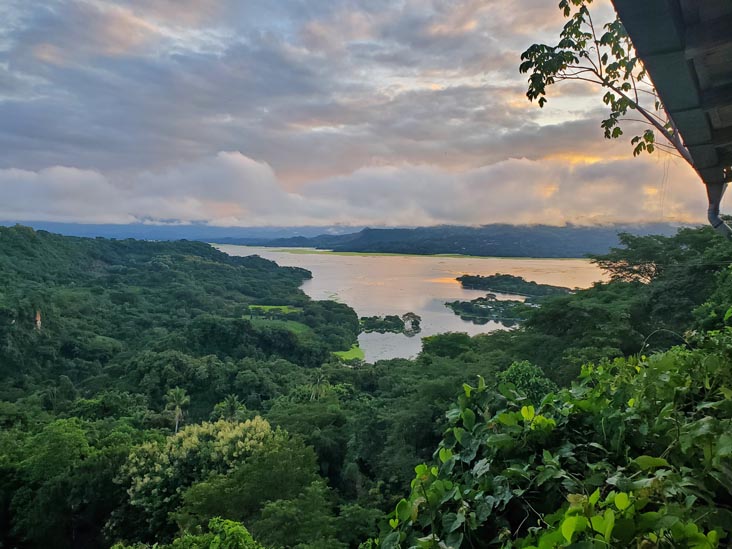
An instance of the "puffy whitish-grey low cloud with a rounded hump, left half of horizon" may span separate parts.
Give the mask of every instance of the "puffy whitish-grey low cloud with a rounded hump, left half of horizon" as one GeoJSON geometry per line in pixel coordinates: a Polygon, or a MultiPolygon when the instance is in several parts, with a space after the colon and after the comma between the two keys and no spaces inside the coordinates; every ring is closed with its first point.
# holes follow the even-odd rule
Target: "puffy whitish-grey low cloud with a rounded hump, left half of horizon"
{"type": "Polygon", "coordinates": [[[0,196],[6,197],[2,219],[89,223],[241,218],[257,225],[302,209],[298,195],[285,192],[269,166],[235,152],[134,179],[60,166],[0,170],[0,196]]]}

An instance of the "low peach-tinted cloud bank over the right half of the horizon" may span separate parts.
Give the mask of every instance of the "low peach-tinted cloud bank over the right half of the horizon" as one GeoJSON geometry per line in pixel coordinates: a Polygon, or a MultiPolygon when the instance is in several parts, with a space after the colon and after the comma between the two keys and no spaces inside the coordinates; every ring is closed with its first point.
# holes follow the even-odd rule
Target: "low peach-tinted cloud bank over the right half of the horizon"
{"type": "Polygon", "coordinates": [[[360,224],[700,221],[703,189],[687,185],[687,170],[679,164],[664,178],[662,164],[641,160],[568,165],[514,158],[457,173],[427,166],[362,169],[304,194],[336,201],[360,224]]]}

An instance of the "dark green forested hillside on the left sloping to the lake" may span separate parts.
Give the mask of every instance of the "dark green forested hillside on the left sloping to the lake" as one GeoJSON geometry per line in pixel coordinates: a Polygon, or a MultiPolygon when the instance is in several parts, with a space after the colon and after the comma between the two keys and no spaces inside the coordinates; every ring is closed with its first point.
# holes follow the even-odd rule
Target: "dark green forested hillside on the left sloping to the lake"
{"type": "MultiPolygon", "coordinates": [[[[312,302],[299,289],[311,275],[200,242],[63,237],[0,227],[0,394],[38,377],[130,378],[135,353],[286,358],[319,365],[348,349],[358,319],[345,305],[312,302]],[[302,320],[296,337],[252,319],[250,305],[287,305],[302,320]],[[53,365],[51,370],[46,365],[53,365]]],[[[140,374],[143,375],[143,374],[140,374]]],[[[173,381],[161,377],[160,396],[173,381]]],[[[150,390],[153,390],[150,388],[150,390]]]]}

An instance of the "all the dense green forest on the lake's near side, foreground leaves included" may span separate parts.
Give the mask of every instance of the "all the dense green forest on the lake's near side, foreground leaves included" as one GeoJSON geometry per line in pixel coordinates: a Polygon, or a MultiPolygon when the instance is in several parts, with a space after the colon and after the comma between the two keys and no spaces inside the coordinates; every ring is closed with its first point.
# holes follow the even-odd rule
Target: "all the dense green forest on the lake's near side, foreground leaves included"
{"type": "Polygon", "coordinates": [[[718,546],[732,248],[620,243],[520,328],[346,366],[306,271],[0,228],[2,545],[718,546]]]}

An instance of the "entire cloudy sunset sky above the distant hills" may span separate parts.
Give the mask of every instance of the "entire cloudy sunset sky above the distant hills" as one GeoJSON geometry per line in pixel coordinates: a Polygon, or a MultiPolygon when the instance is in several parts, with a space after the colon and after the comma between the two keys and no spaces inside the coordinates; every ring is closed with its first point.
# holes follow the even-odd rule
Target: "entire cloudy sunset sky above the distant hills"
{"type": "Polygon", "coordinates": [[[526,100],[556,0],[2,3],[0,220],[705,217],[683,162],[603,139],[596,91],[526,100]]]}

